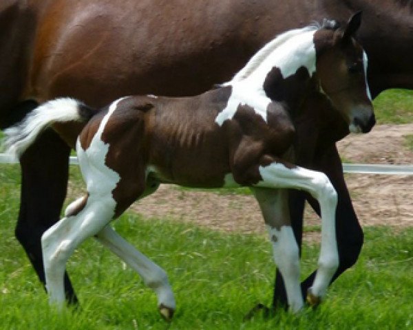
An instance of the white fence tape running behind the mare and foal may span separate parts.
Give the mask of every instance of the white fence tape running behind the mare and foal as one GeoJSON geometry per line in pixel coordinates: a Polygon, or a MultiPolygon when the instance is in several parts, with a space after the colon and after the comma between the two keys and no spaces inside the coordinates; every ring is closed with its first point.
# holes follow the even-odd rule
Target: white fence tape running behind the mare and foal
{"type": "MultiPolygon", "coordinates": [[[[0,164],[17,164],[17,160],[0,153],[0,164]]],[[[70,164],[78,165],[77,157],[71,156],[70,164]]],[[[357,174],[413,175],[413,165],[343,164],[343,171],[357,174]]]]}

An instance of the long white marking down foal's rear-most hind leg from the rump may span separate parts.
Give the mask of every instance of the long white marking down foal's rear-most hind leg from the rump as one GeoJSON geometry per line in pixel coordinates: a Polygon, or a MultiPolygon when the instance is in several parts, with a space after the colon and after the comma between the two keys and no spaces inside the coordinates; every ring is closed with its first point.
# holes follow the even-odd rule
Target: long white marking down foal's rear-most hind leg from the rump
{"type": "Polygon", "coordinates": [[[116,188],[120,177],[105,164],[109,144],[105,144],[101,137],[120,100],[110,105],[86,151],[81,148],[79,140],[76,143],[79,166],[89,192],[85,208],[76,216],[61,219],[41,239],[47,292],[50,302],[59,307],[63,307],[65,301],[63,274],[67,259],[79,244],[100,232],[114,217],[116,201],[112,190],[116,188]]]}

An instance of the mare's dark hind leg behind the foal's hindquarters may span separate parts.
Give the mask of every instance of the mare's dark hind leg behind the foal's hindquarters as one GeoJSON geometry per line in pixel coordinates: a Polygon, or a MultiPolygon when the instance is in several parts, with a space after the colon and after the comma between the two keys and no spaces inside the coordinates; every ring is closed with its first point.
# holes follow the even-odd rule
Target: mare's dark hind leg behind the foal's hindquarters
{"type": "MultiPolygon", "coordinates": [[[[49,130],[20,159],[21,204],[15,234],[43,283],[41,235],[59,220],[66,196],[69,153],[67,144],[49,130]]],[[[65,292],[70,303],[77,302],[67,274],[65,292]]]]}

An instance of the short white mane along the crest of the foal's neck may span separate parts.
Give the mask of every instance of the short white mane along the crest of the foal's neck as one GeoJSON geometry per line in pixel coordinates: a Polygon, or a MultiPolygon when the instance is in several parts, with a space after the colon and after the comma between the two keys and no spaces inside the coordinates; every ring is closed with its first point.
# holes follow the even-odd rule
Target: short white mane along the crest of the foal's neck
{"type": "Polygon", "coordinates": [[[328,30],[336,30],[339,28],[339,24],[336,21],[330,21],[328,19],[324,19],[323,23],[320,24],[318,22],[314,22],[310,25],[307,25],[304,28],[289,30],[282,34],[279,34],[275,39],[264,45],[249,61],[246,65],[235,74],[235,76],[231,79],[231,83],[235,83],[237,81],[244,80],[248,76],[250,76],[257,67],[260,66],[262,61],[271,54],[277,47],[283,45],[291,38],[298,36],[299,34],[303,34],[305,32],[310,31],[317,31],[320,29],[328,29],[328,30]]]}

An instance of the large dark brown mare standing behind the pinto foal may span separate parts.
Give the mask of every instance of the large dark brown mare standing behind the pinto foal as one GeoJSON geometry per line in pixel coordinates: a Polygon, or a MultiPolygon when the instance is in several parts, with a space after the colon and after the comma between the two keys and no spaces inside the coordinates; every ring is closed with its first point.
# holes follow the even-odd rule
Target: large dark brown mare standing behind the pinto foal
{"type": "MultiPolygon", "coordinates": [[[[98,107],[127,94],[199,94],[229,80],[276,34],[324,17],[347,19],[357,10],[364,14],[359,38],[370,58],[372,96],[390,87],[413,88],[412,1],[2,0],[0,126],[58,96],[98,107]]],[[[339,195],[336,278],[357,260],[363,243],[335,146],[348,128],[314,131],[308,126],[296,125],[297,164],[326,173],[339,195]]],[[[21,158],[16,236],[43,283],[40,237],[59,219],[69,152],[56,133],[46,131],[21,158]]],[[[290,196],[299,245],[305,199],[319,209],[302,192],[290,196]]],[[[304,292],[314,274],[302,283],[304,292]]],[[[65,289],[75,301],[67,277],[65,289]]],[[[277,300],[286,301],[279,276],[277,300]]]]}

